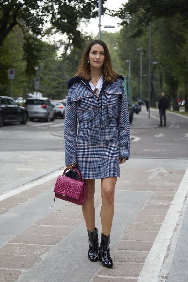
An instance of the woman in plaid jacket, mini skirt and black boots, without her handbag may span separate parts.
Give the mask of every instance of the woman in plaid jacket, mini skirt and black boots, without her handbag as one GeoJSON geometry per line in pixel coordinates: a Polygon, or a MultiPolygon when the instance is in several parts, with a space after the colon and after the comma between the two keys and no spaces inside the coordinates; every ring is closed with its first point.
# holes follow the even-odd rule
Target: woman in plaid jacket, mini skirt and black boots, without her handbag
{"type": "Polygon", "coordinates": [[[107,267],[113,265],[109,243],[119,164],[130,155],[129,115],[122,80],[123,76],[112,69],[107,45],[92,40],[82,55],[78,72],[68,81],[64,124],[66,167],[73,169],[72,165],[77,165],[87,183],[82,212],[89,236],[88,257],[91,261],[99,259],[107,267]],[[95,227],[96,178],[101,179],[100,246],[95,227]]]}

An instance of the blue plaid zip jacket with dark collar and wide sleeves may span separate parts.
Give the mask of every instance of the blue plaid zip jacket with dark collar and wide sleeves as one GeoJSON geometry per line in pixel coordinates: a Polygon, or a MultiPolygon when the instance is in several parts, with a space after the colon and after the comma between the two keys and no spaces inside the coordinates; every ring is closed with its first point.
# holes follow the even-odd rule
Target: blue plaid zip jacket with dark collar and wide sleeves
{"type": "Polygon", "coordinates": [[[79,128],[116,126],[119,138],[119,156],[130,157],[130,129],[127,98],[123,76],[112,83],[103,82],[99,101],[88,81],[74,77],[68,81],[64,141],[66,165],[77,163],[76,137],[79,128]]]}

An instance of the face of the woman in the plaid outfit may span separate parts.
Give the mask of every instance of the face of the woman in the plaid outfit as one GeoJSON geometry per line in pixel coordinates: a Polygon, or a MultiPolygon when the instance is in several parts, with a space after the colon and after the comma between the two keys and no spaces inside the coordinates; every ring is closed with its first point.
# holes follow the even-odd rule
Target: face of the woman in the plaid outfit
{"type": "Polygon", "coordinates": [[[100,44],[94,44],[89,52],[90,67],[101,68],[104,64],[104,48],[100,44]]]}

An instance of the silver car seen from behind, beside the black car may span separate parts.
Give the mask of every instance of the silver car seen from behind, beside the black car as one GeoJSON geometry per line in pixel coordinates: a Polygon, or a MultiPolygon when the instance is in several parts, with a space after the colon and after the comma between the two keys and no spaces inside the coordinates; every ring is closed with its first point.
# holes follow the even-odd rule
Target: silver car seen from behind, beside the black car
{"type": "Polygon", "coordinates": [[[53,106],[48,98],[28,98],[24,107],[29,113],[29,120],[45,119],[49,122],[54,120],[53,106]]]}

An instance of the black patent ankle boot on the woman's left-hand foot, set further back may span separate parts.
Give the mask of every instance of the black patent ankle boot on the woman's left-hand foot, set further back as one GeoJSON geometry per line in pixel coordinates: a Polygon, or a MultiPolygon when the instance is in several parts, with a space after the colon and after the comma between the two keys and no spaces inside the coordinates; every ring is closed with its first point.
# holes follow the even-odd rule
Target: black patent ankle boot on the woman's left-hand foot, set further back
{"type": "Polygon", "coordinates": [[[94,231],[90,232],[87,230],[89,237],[89,250],[88,250],[88,258],[91,261],[97,261],[99,259],[99,238],[98,238],[98,230],[95,228],[94,231]]]}

